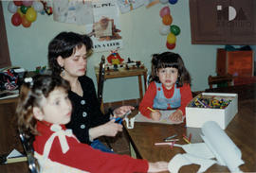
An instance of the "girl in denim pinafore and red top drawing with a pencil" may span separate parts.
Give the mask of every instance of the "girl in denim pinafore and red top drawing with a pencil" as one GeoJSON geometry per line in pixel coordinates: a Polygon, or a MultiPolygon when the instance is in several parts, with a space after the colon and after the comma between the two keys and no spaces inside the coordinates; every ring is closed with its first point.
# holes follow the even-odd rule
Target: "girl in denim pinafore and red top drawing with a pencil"
{"type": "Polygon", "coordinates": [[[164,52],[152,58],[149,87],[139,104],[139,112],[159,121],[159,110],[175,110],[169,118],[182,121],[185,107],[192,99],[191,76],[178,54],[164,52]]]}

